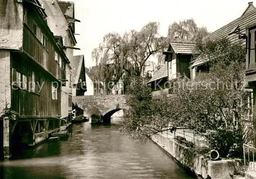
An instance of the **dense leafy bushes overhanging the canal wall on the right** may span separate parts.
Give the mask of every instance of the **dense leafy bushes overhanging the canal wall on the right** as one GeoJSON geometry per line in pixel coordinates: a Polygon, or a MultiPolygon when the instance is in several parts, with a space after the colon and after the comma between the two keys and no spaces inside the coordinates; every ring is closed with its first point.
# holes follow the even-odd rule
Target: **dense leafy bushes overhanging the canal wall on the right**
{"type": "Polygon", "coordinates": [[[198,57],[208,57],[208,73],[199,72],[193,81],[178,76],[173,94],[152,97],[150,89],[136,79],[129,87],[121,132],[147,138],[168,125],[189,126],[204,137],[221,157],[241,157],[243,143],[250,142],[247,99],[244,89],[245,50],[226,39],[198,44],[198,57]],[[143,97],[142,97],[143,96],[143,97]]]}

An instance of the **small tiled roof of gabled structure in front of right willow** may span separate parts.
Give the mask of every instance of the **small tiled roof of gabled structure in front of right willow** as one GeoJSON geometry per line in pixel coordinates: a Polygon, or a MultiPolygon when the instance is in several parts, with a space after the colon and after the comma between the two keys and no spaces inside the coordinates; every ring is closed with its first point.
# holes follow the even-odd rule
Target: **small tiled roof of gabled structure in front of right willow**
{"type": "Polygon", "coordinates": [[[194,54],[196,43],[189,42],[170,42],[176,54],[194,54]]]}

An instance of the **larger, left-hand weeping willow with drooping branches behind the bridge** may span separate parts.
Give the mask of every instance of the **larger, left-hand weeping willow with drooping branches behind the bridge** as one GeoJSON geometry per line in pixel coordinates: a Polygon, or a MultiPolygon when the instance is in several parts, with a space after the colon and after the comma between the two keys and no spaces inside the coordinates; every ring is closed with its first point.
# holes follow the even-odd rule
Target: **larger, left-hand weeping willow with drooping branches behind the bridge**
{"type": "Polygon", "coordinates": [[[125,93],[131,79],[145,74],[148,59],[165,46],[166,38],[158,34],[158,29],[159,23],[150,22],[140,31],[132,30],[123,36],[115,32],[106,34],[92,52],[98,66],[95,79],[107,84],[122,80],[125,93]]]}

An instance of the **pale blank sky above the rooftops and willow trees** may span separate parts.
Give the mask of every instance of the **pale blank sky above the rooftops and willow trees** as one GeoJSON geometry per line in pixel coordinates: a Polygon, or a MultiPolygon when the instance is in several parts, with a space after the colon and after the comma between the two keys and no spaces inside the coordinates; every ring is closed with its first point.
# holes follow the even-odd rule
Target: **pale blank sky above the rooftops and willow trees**
{"type": "MultiPolygon", "coordinates": [[[[72,0],[69,0],[72,1],[72,0]]],[[[76,47],[86,67],[95,65],[92,50],[109,32],[139,31],[150,21],[160,23],[159,34],[167,35],[169,24],[194,18],[199,27],[214,32],[240,17],[252,0],[73,0],[75,3],[76,47]]],[[[253,1],[256,6],[256,0],[253,1]]]]}

